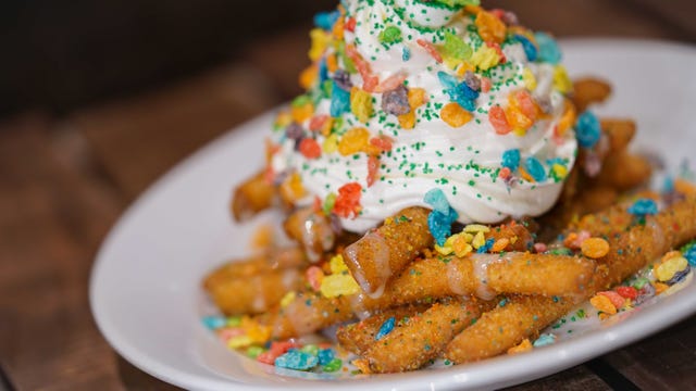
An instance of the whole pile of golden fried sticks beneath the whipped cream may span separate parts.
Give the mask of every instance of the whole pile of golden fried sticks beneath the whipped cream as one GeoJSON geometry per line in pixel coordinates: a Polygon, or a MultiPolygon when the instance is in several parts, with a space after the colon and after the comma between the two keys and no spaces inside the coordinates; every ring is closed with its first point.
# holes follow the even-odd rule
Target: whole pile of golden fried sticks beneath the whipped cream
{"type": "MultiPolygon", "coordinates": [[[[588,78],[574,91],[584,111],[610,88],[588,78]]],[[[463,227],[457,231],[468,240],[446,248],[435,245],[427,209],[406,209],[360,238],[336,229],[320,207],[295,207],[258,174],[236,189],[234,217],[282,207],[294,244],[229,262],[204,289],[225,315],[253,325],[240,345],[340,325],[336,339],[362,373],[515,352],[574,306],[696,237],[694,187],[676,180],[668,193],[646,190],[650,165],[627,150],[634,123],[607,118],[601,128],[602,142],[581,152],[549,213],[463,227]],[[636,212],[636,202],[660,209],[636,212]],[[472,240],[492,245],[471,251],[472,240]]]]}

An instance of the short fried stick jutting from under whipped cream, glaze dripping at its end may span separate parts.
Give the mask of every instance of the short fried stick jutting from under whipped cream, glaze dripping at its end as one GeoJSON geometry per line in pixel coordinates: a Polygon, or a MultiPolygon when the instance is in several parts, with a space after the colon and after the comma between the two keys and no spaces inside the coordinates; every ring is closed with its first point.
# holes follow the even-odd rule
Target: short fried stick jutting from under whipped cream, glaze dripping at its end
{"type": "Polygon", "coordinates": [[[428,213],[424,207],[408,207],[344,250],[344,261],[365,293],[382,291],[393,275],[433,245],[428,213]]]}

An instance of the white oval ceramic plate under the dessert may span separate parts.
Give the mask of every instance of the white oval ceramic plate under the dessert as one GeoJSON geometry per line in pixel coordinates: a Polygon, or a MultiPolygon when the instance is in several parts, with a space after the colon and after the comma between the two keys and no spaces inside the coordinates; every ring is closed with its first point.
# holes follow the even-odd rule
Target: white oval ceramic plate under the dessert
{"type": "MultiPolygon", "coordinates": [[[[611,80],[616,93],[600,113],[635,118],[636,148],[659,151],[673,168],[693,156],[693,47],[633,40],[573,40],[563,47],[571,76],[611,80]]],[[[352,379],[281,376],[226,350],[200,323],[202,276],[247,249],[253,224],[235,226],[227,202],[233,185],[261,166],[272,118],[269,113],[229,131],[172,169],[128,209],[99,252],[90,286],[97,324],[122,356],[160,379],[200,390],[497,388],[571,367],[696,312],[691,283],[620,321],[523,355],[352,379]]]]}

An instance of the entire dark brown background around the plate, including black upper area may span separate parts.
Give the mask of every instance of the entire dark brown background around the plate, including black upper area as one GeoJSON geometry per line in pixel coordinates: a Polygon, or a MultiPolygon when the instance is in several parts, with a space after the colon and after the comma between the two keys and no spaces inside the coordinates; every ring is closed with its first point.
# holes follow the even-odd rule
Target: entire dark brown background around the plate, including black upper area
{"type": "MultiPolygon", "coordinates": [[[[158,176],[298,92],[311,16],[334,0],[239,3],[0,4],[0,390],[172,388],[99,335],[88,275],[111,225],[158,176]]],[[[486,5],[561,37],[696,41],[688,0],[486,5]]],[[[696,317],[518,389],[696,389],[694,335],[696,317]]]]}

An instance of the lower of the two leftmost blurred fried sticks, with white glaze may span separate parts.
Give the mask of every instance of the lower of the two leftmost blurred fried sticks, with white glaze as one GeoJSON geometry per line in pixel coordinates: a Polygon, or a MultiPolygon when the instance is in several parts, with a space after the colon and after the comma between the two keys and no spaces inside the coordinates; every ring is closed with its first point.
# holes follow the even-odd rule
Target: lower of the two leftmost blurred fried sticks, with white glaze
{"type": "Polygon", "coordinates": [[[283,297],[303,287],[298,268],[287,268],[245,278],[233,278],[208,289],[217,307],[226,315],[259,314],[275,306],[283,297]]]}

